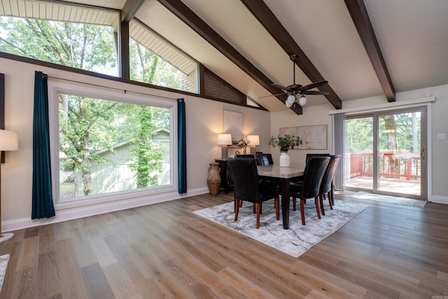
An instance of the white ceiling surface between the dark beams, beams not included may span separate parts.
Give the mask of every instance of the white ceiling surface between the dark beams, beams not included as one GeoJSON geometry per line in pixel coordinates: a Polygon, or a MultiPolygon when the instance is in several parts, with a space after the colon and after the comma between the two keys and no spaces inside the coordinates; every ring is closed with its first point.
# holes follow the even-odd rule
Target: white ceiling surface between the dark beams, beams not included
{"type": "MultiPolygon", "coordinates": [[[[293,62],[239,0],[182,0],[270,80],[293,83],[293,62]]],[[[344,0],[264,0],[344,101],[384,95],[344,0]]],[[[123,1],[70,1],[120,8],[123,1]]],[[[447,0],[364,0],[395,92],[448,84],[447,0]]],[[[157,0],[139,20],[269,111],[287,109],[157,0]]],[[[296,83],[311,83],[296,67],[296,83]]],[[[328,103],[309,96],[308,104],[328,103]]]]}

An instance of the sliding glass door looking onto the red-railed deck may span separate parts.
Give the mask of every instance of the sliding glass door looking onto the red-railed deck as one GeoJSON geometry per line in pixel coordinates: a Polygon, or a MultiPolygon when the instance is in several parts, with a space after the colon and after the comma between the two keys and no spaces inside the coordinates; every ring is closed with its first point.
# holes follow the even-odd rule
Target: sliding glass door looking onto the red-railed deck
{"type": "Polygon", "coordinates": [[[426,107],[349,116],[345,186],[425,199],[426,107]]]}

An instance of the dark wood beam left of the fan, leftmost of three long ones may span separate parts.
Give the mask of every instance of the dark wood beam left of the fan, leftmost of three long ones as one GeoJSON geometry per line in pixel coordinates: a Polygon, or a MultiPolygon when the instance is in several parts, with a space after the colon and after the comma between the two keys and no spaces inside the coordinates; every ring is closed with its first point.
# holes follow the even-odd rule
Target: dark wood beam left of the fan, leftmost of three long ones
{"type": "MultiPolygon", "coordinates": [[[[158,0],[160,4],[165,6],[169,11],[174,13],[179,19],[186,23],[190,28],[195,30],[197,34],[202,36],[203,39],[208,41],[212,46],[219,50],[225,57],[228,57],[233,63],[235,63],[240,69],[246,72],[251,78],[257,81],[263,88],[271,92],[273,95],[282,93],[283,90],[274,88],[272,82],[265,74],[257,69],[246,57],[241,55],[230,43],[225,41],[217,32],[214,31],[204,20],[196,15],[188,6],[183,4],[180,0],[158,0]]],[[[276,96],[281,102],[286,102],[286,95],[276,96]]],[[[290,108],[297,114],[302,114],[302,107],[300,105],[294,105],[290,108]]]]}

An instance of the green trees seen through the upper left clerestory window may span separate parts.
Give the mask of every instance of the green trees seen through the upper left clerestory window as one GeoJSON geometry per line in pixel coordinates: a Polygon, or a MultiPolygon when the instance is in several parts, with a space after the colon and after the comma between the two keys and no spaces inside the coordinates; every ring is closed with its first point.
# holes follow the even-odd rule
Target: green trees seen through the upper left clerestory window
{"type": "Polygon", "coordinates": [[[109,26],[0,17],[0,51],[118,76],[109,26]]]}

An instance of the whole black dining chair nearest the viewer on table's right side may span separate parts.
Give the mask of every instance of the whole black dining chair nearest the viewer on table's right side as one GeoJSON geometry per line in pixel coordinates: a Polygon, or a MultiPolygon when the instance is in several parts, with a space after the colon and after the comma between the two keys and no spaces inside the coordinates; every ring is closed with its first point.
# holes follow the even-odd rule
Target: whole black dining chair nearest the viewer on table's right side
{"type": "Polygon", "coordinates": [[[299,183],[290,184],[290,196],[293,197],[293,210],[297,198],[300,199],[300,217],[302,218],[302,225],[305,225],[304,204],[307,198],[314,197],[314,204],[316,205],[316,213],[318,218],[321,218],[319,212],[319,191],[321,188],[321,181],[325,169],[327,169],[330,157],[312,157],[307,160],[307,165],[303,172],[303,180],[299,183]]]}

